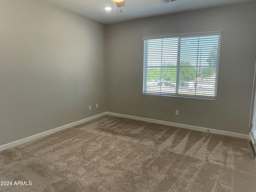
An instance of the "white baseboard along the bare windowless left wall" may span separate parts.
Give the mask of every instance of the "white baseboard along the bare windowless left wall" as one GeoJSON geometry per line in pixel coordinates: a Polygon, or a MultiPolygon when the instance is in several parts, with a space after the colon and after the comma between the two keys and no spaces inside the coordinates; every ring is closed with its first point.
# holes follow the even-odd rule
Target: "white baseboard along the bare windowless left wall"
{"type": "Polygon", "coordinates": [[[0,151],[3,151],[3,150],[6,150],[6,149],[9,149],[9,148],[18,146],[20,144],[24,144],[26,142],[29,142],[29,141],[32,141],[32,140],[44,137],[46,135],[50,135],[50,134],[56,133],[58,131],[62,131],[64,129],[70,128],[72,126],[79,125],[81,123],[88,122],[90,120],[99,118],[99,117],[104,116],[104,115],[106,115],[106,112],[98,114],[98,115],[95,115],[95,116],[92,116],[92,117],[88,117],[88,118],[85,118],[85,119],[82,119],[82,120],[79,120],[79,121],[76,121],[76,122],[73,122],[73,123],[70,123],[70,124],[67,124],[67,125],[64,125],[64,126],[60,126],[58,128],[54,128],[52,130],[48,130],[48,131],[45,131],[45,132],[42,132],[42,133],[39,133],[39,134],[36,134],[36,135],[32,135],[30,137],[23,138],[23,139],[18,140],[18,141],[14,141],[14,142],[11,142],[11,143],[8,143],[8,144],[4,144],[4,145],[0,146],[0,151]]]}

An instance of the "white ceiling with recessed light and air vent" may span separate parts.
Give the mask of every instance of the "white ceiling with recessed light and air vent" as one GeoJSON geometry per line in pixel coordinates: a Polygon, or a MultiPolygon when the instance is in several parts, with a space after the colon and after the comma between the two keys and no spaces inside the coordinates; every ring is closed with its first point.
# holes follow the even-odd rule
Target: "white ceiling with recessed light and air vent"
{"type": "Polygon", "coordinates": [[[160,4],[158,0],[126,0],[125,6],[107,11],[104,6],[114,8],[112,0],[42,0],[65,10],[85,16],[102,24],[111,24],[138,18],[160,16],[190,10],[237,4],[252,0],[176,0],[160,4]],[[120,12],[122,9],[122,13],[120,12]]]}

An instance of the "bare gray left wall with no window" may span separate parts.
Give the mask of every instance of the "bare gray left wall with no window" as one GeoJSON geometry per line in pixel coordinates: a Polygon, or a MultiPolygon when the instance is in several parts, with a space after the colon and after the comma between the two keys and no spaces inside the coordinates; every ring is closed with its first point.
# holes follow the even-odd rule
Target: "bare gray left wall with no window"
{"type": "Polygon", "coordinates": [[[0,1],[0,146],[107,110],[104,34],[37,0],[0,1]]]}

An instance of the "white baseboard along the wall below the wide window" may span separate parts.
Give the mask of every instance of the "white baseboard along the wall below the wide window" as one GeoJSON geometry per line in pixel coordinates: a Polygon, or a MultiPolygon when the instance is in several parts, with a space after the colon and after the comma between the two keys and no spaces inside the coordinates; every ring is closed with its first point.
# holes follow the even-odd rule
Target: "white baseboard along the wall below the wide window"
{"type": "Polygon", "coordinates": [[[155,119],[149,119],[149,118],[143,118],[143,117],[137,117],[137,116],[131,116],[131,115],[124,115],[124,114],[118,114],[118,113],[112,113],[112,112],[106,112],[107,115],[117,116],[117,117],[124,117],[128,119],[134,119],[134,120],[141,120],[146,121],[150,123],[157,123],[162,125],[168,125],[168,126],[174,126],[178,128],[185,128],[190,130],[196,130],[196,131],[202,131],[202,132],[209,132],[219,135],[225,135],[225,136],[232,136],[232,137],[238,137],[242,139],[248,139],[250,140],[250,136],[246,134],[240,134],[240,133],[233,133],[228,131],[221,131],[221,130],[215,130],[215,129],[208,129],[204,127],[197,127],[197,126],[191,126],[191,125],[185,125],[185,124],[179,124],[179,123],[173,123],[168,121],[161,121],[161,120],[155,120],[155,119]]]}

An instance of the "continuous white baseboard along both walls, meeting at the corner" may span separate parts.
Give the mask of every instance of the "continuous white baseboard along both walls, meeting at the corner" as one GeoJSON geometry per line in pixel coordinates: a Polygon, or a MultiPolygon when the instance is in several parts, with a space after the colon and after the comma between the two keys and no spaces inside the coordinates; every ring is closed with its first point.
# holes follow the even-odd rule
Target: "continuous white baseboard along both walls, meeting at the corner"
{"type": "Polygon", "coordinates": [[[220,135],[225,135],[225,136],[232,136],[232,137],[238,137],[238,138],[243,138],[243,139],[248,139],[250,140],[250,135],[245,135],[245,134],[239,134],[239,133],[233,133],[233,132],[227,132],[227,131],[221,131],[221,130],[214,130],[214,129],[208,129],[208,128],[203,128],[203,127],[197,127],[197,126],[191,126],[191,125],[185,125],[185,124],[179,124],[179,123],[173,123],[173,122],[168,122],[168,121],[161,121],[161,120],[155,120],[155,119],[149,119],[149,118],[143,118],[143,117],[137,117],[137,116],[131,116],[131,115],[125,115],[125,114],[118,114],[118,113],[112,113],[112,112],[104,112],[86,119],[82,119],[77,122],[73,122],[64,126],[60,126],[58,128],[54,128],[52,130],[48,130],[46,132],[42,132],[18,141],[14,141],[5,145],[0,146],[0,151],[18,146],[20,144],[24,144],[26,142],[53,134],[55,132],[70,128],[72,126],[79,125],[81,123],[99,118],[104,115],[112,115],[112,116],[117,116],[117,117],[123,117],[123,118],[128,118],[128,119],[134,119],[134,120],[141,120],[145,122],[151,122],[151,123],[157,123],[157,124],[162,124],[162,125],[168,125],[168,126],[174,126],[178,128],[185,128],[185,129],[190,129],[190,130],[196,130],[196,131],[202,131],[202,132],[210,132],[214,134],[220,134],[220,135]]]}

